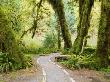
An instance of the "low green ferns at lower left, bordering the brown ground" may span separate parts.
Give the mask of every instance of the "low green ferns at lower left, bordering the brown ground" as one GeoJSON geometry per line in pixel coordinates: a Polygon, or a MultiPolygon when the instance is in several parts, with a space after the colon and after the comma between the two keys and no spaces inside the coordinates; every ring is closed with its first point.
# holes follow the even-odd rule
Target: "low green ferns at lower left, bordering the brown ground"
{"type": "Polygon", "coordinates": [[[32,59],[29,56],[25,56],[23,60],[17,61],[15,58],[10,57],[8,53],[0,52],[0,72],[8,72],[30,66],[32,66],[32,59]]]}

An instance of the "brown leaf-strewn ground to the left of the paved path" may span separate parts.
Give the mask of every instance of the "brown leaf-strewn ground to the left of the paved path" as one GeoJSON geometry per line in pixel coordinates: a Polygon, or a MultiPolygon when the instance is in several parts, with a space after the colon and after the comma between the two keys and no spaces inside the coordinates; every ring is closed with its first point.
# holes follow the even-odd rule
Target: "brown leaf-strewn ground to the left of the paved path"
{"type": "Polygon", "coordinates": [[[0,74],[0,82],[42,82],[42,71],[36,63],[31,68],[0,74]]]}

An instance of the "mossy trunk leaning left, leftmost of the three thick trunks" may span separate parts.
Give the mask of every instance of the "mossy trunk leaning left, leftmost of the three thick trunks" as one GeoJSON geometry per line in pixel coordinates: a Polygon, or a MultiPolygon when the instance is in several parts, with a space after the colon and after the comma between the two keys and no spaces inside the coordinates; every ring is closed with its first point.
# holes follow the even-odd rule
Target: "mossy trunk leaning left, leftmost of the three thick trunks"
{"type": "Polygon", "coordinates": [[[48,0],[48,2],[52,5],[53,9],[55,10],[58,20],[61,26],[61,32],[64,39],[64,48],[71,48],[72,42],[71,42],[71,36],[69,33],[67,21],[65,18],[65,12],[64,12],[64,4],[62,0],[48,0]]]}

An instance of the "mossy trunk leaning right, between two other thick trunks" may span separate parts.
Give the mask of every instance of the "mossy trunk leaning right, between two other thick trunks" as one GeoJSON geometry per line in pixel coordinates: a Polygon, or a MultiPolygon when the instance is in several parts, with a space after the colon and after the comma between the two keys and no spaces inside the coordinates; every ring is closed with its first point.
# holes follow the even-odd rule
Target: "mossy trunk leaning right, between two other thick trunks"
{"type": "Polygon", "coordinates": [[[79,24],[77,27],[77,38],[74,41],[73,52],[79,54],[82,50],[84,38],[90,27],[90,14],[94,0],[79,0],[79,24]]]}

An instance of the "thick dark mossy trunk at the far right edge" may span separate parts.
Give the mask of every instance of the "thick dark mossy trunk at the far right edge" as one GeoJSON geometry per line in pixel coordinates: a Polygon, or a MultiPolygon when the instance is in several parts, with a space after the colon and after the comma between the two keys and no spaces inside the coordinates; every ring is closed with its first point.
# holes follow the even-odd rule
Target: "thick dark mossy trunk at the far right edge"
{"type": "Polygon", "coordinates": [[[98,29],[98,41],[96,55],[100,60],[101,66],[108,66],[109,64],[109,50],[110,50],[110,1],[102,0],[101,4],[101,19],[98,29]]]}

